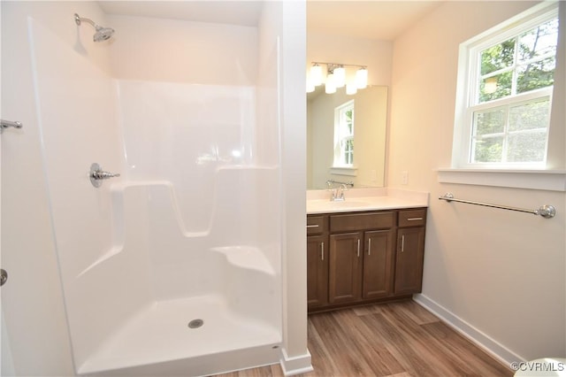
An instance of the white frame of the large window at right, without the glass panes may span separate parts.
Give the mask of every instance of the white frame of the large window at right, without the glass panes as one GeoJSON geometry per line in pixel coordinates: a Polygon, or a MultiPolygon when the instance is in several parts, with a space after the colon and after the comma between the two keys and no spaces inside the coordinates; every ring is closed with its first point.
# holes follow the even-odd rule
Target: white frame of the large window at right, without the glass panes
{"type": "MultiPolygon", "coordinates": [[[[509,40],[537,27],[539,24],[559,17],[558,3],[545,2],[532,7],[514,18],[511,18],[500,25],[493,27],[486,32],[477,35],[460,45],[458,58],[458,84],[456,88],[456,108],[455,108],[455,134],[453,141],[452,167],[455,169],[476,169],[476,170],[525,170],[525,169],[545,169],[547,164],[547,146],[543,162],[524,163],[472,163],[471,152],[473,142],[473,116],[474,112],[480,109],[496,108],[502,105],[516,104],[528,100],[535,100],[548,96],[550,98],[550,108],[552,108],[554,86],[539,88],[525,92],[513,97],[503,97],[485,103],[476,103],[478,90],[477,84],[481,78],[479,72],[480,52],[494,44],[509,40]]],[[[559,26],[559,33],[561,33],[559,26]]],[[[558,46],[556,58],[558,58],[558,46]]],[[[547,140],[550,134],[552,121],[549,122],[547,129],[547,140]]],[[[548,142],[547,142],[548,144],[548,142]]]]}

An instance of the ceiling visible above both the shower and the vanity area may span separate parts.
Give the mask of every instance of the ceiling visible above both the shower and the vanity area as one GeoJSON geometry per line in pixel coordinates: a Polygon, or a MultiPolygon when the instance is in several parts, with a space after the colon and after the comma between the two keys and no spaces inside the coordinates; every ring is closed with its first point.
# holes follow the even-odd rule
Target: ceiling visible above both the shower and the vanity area
{"type": "MultiPolygon", "coordinates": [[[[293,1],[293,0],[285,0],[293,1]]],[[[99,1],[109,14],[255,27],[262,1],[99,1]]],[[[391,41],[440,1],[308,0],[307,31],[391,41]]]]}

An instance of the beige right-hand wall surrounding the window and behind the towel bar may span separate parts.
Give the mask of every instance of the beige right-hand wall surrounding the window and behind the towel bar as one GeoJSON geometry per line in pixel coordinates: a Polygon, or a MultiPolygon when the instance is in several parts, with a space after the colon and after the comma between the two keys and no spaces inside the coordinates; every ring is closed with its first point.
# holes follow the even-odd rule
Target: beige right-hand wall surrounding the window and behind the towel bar
{"type": "Polygon", "coordinates": [[[436,169],[451,162],[459,43],[532,4],[447,2],[394,42],[387,181],[431,193],[421,298],[507,361],[566,356],[564,192],[442,184],[436,169]],[[558,214],[437,200],[447,191],[558,214]]]}

